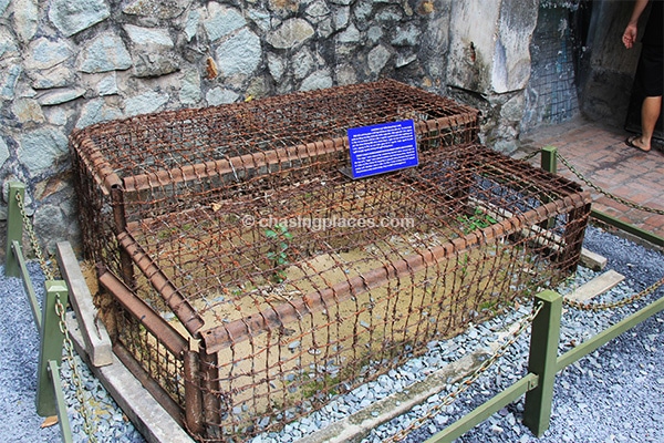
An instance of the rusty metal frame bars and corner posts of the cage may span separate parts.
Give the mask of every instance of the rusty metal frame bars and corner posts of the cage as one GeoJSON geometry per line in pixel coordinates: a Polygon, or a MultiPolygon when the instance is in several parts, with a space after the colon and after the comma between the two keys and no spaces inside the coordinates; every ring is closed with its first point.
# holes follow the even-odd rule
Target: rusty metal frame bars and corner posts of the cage
{"type": "MultiPolygon", "coordinates": [[[[363,85],[362,87],[371,87],[371,85],[363,85]]],[[[408,91],[411,91],[409,86],[408,91]]],[[[418,91],[417,93],[421,92],[418,91]]],[[[240,104],[238,107],[242,109],[243,105],[240,104]]],[[[418,136],[422,136],[423,134],[440,133],[444,127],[468,125],[466,130],[470,127],[470,136],[468,137],[468,134],[464,135],[466,147],[471,146],[471,148],[481,152],[481,155],[485,157],[490,157],[500,163],[500,165],[512,168],[523,182],[532,179],[532,172],[535,171],[532,166],[474,143],[476,142],[477,133],[473,127],[477,127],[479,114],[467,106],[459,106],[458,110],[460,111],[459,115],[446,116],[444,121],[417,121],[415,123],[416,133],[418,136]]],[[[176,117],[178,113],[175,112],[169,115],[176,117]]],[[[79,171],[79,189],[83,189],[85,183],[89,186],[92,185],[92,187],[95,187],[95,190],[82,190],[82,194],[90,196],[96,192],[103,196],[106,204],[110,202],[108,206],[112,208],[110,218],[101,222],[98,219],[86,222],[87,236],[94,231],[95,227],[92,225],[95,223],[98,223],[100,226],[106,225],[102,229],[108,229],[110,227],[115,241],[113,248],[116,248],[120,257],[118,266],[113,260],[105,261],[104,258],[107,257],[103,255],[92,254],[97,259],[100,282],[111,292],[113,302],[116,303],[113,315],[121,312],[138,321],[166,349],[167,354],[170,356],[168,358],[173,358],[178,362],[178,371],[181,372],[178,375],[181,375],[183,381],[177,390],[181,391],[180,396],[184,399],[184,404],[181,402],[178,404],[178,399],[174,399],[173,393],[167,392],[164,387],[151,377],[142,363],[137,361],[135,354],[132,354],[132,351],[127,349],[128,347],[117,339],[120,334],[117,330],[113,331],[113,337],[115,337],[114,350],[121,356],[121,360],[134,373],[138,374],[157,401],[189,433],[201,439],[209,439],[210,436],[212,439],[224,439],[224,435],[219,434],[218,429],[220,425],[218,413],[221,410],[218,393],[221,389],[217,372],[217,352],[222,348],[241,340],[242,337],[247,338],[260,331],[283,324],[284,321],[288,322],[288,319],[297,319],[303,315],[308,315],[324,306],[324,300],[343,301],[343,297],[351,297],[351,295],[367,290],[374,285],[380,286],[385,284],[391,278],[405,276],[413,272],[413,270],[426,268],[433,262],[486,244],[495,238],[516,235],[523,229],[531,229],[532,226],[538,224],[543,228],[547,225],[547,220],[557,215],[573,213],[571,217],[574,223],[584,226],[590,214],[591,198],[588,192],[582,190],[579,185],[562,177],[538,172],[540,174],[538,185],[540,185],[542,190],[547,188],[563,189],[568,195],[563,198],[544,203],[538,208],[526,213],[506,216],[490,227],[476,229],[467,236],[456,238],[442,246],[433,247],[424,254],[413,255],[396,262],[385,264],[383,267],[372,270],[369,276],[363,275],[354,277],[352,281],[342,281],[340,285],[343,287],[329,288],[326,292],[308,293],[294,302],[279,305],[279,311],[277,309],[261,311],[257,315],[235,320],[230,324],[217,324],[206,328],[204,320],[188,302],[187,297],[178,292],[177,286],[172,284],[168,277],[160,272],[158,266],[152,261],[149,253],[143,250],[139,241],[132,237],[131,225],[133,222],[132,216],[125,213],[127,207],[126,200],[131,199],[132,195],[149,192],[155,187],[162,186],[164,183],[177,184],[209,179],[230,174],[235,175],[238,171],[260,171],[261,168],[270,171],[271,166],[277,166],[277,172],[279,172],[281,171],[279,166],[283,163],[284,158],[288,162],[293,159],[299,162],[335,156],[347,151],[347,138],[324,138],[305,144],[189,164],[169,171],[158,169],[144,174],[121,176],[103,156],[94,155],[94,143],[90,138],[90,134],[94,133],[94,131],[95,127],[92,127],[74,134],[71,146],[75,157],[75,167],[79,171]],[[541,178],[544,176],[546,178],[541,178]],[[570,210],[569,213],[566,212],[568,209],[570,210]],[[190,334],[189,338],[174,330],[167,321],[136,296],[134,286],[136,270],[139,270],[145,276],[149,276],[151,279],[156,279],[151,281],[152,285],[155,288],[159,288],[160,296],[188,331],[190,334]],[[340,293],[343,295],[342,298],[340,298],[340,293]],[[193,343],[193,341],[196,341],[196,343],[193,343]]],[[[456,145],[448,148],[455,147],[456,145]]],[[[364,179],[371,181],[373,178],[367,177],[364,179]]],[[[93,205],[93,208],[100,209],[100,206],[93,205]]],[[[570,237],[562,239],[562,244],[569,246],[563,253],[567,256],[566,262],[572,264],[567,270],[573,270],[575,267],[583,237],[582,229],[573,229],[572,231],[573,234],[570,237]]],[[[101,238],[107,237],[102,235],[101,238]]],[[[87,244],[86,249],[87,251],[94,250],[94,243],[87,244]]]]}

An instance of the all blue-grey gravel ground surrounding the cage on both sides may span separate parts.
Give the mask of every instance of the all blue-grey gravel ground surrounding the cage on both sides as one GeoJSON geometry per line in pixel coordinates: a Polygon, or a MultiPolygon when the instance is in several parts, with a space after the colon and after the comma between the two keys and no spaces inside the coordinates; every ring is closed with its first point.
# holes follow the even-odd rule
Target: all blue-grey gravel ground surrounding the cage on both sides
{"type": "MultiPolygon", "coordinates": [[[[621,299],[652,285],[664,276],[664,255],[643,248],[634,243],[589,228],[585,247],[609,258],[608,269],[623,274],[623,284],[602,296],[603,300],[621,299]]],[[[39,268],[30,265],[35,276],[35,289],[43,286],[39,268]]],[[[588,281],[596,274],[580,269],[571,288],[588,281]]],[[[561,292],[571,288],[560,288],[561,292]]],[[[645,306],[647,301],[664,295],[657,290],[644,301],[620,310],[598,313],[567,310],[561,326],[563,352],[629,313],[645,306]]],[[[37,389],[38,332],[20,280],[4,278],[0,267],[0,435],[11,442],[60,441],[58,426],[40,429],[43,419],[34,411],[37,389]]],[[[461,337],[446,342],[433,342],[429,352],[413,359],[403,368],[391,371],[376,382],[367,383],[321,412],[311,414],[286,426],[280,433],[261,435],[255,441],[291,442],[357,410],[367,401],[380,399],[403,389],[407,381],[422,379],[426,373],[449,361],[486,348],[496,341],[500,329],[511,324],[529,311],[529,306],[508,312],[489,322],[477,324],[461,337]]],[[[556,381],[551,426],[541,439],[536,439],[521,425],[523,401],[505,408],[489,420],[468,432],[460,442],[662,442],[664,441],[664,312],[611,341],[598,351],[581,359],[562,371],[556,381]]],[[[512,384],[526,373],[529,334],[523,334],[507,356],[501,358],[466,393],[444,413],[434,415],[421,429],[412,432],[408,442],[426,440],[464,413],[490,399],[499,390],[512,384]]],[[[123,416],[113,400],[84,365],[82,375],[86,399],[93,404],[97,440],[100,442],[142,442],[142,437],[123,416]]],[[[69,380],[69,368],[63,368],[63,379],[69,380]]],[[[65,385],[70,403],[70,418],[74,441],[86,441],[82,432],[82,419],[75,412],[76,404],[71,385],[65,385]]],[[[443,396],[444,393],[439,396],[443,396]]],[[[407,425],[414,418],[426,413],[435,402],[416,408],[375,429],[365,442],[382,442],[385,437],[407,425]]]]}

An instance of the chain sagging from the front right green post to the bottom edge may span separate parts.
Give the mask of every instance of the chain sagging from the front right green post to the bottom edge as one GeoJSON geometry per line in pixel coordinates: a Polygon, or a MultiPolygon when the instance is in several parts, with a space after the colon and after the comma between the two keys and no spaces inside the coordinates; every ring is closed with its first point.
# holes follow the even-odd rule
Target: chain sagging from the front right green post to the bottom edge
{"type": "Polygon", "coordinates": [[[396,434],[388,436],[383,440],[383,442],[398,442],[405,439],[411,432],[416,429],[422,427],[427,421],[433,420],[435,415],[437,415],[440,410],[445,406],[450,405],[457,396],[464,393],[470,385],[479,379],[479,377],[485,373],[494,363],[496,363],[505,353],[508,348],[510,348],[518,339],[521,333],[532,323],[532,320],[537,317],[539,311],[542,309],[543,303],[538,301],[537,305],[532,308],[532,311],[525,316],[519,321],[519,328],[512,333],[511,338],[502,343],[494,354],[485,360],[479,368],[477,368],[470,375],[468,375],[465,380],[460,381],[455,391],[449,392],[440,402],[433,405],[424,415],[418,416],[413,422],[411,422],[406,427],[398,431],[396,434]]]}

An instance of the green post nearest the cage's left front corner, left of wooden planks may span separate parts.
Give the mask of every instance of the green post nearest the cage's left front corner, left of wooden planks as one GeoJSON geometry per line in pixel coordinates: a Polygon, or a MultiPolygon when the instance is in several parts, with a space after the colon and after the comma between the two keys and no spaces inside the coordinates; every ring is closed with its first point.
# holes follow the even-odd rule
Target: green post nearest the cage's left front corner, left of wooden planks
{"type": "Polygon", "coordinates": [[[37,413],[41,416],[51,416],[58,413],[58,402],[53,391],[53,383],[49,377],[49,361],[62,361],[62,344],[64,332],[60,329],[60,316],[55,311],[58,301],[66,306],[69,290],[63,280],[49,280],[45,282],[46,293],[42,308],[41,347],[37,367],[37,413]]]}

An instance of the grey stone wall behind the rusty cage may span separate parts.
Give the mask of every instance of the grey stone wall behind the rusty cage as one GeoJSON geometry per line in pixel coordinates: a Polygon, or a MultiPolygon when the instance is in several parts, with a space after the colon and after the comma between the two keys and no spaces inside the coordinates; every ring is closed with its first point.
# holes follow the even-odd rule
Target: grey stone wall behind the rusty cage
{"type": "Polygon", "coordinates": [[[0,0],[0,182],[76,245],[74,127],[381,76],[476,105],[510,151],[536,21],[537,0],[0,0]]]}

